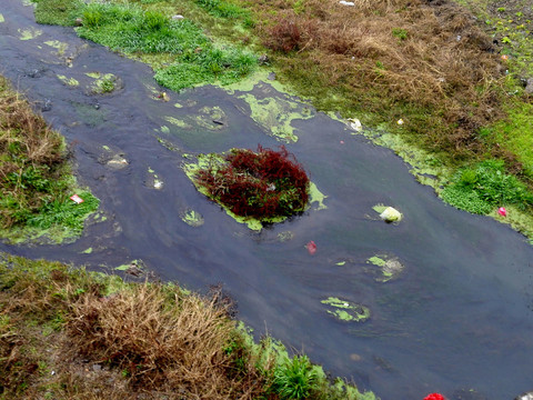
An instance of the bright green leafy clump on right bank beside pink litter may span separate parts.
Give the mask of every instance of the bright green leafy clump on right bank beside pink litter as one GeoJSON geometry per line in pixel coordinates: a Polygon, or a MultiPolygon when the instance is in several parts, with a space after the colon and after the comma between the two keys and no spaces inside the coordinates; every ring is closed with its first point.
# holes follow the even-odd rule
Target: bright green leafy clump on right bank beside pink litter
{"type": "Polygon", "coordinates": [[[447,203],[469,212],[486,214],[495,207],[533,206],[533,193],[515,176],[505,173],[503,161],[486,160],[457,171],[441,193],[447,203]]]}

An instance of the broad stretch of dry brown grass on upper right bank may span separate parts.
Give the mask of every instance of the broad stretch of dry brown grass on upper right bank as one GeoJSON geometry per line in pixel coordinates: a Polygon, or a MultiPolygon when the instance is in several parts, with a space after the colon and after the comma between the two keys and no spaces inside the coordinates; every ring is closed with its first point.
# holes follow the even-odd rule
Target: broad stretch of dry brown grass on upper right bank
{"type": "Polygon", "coordinates": [[[300,86],[308,73],[301,70],[315,71],[310,82],[318,78],[349,93],[354,109],[389,116],[413,109],[396,117],[431,147],[482,152],[476,130],[501,117],[495,92],[502,70],[475,20],[447,0],[354,2],[248,3],[263,19],[264,44],[300,86]]]}

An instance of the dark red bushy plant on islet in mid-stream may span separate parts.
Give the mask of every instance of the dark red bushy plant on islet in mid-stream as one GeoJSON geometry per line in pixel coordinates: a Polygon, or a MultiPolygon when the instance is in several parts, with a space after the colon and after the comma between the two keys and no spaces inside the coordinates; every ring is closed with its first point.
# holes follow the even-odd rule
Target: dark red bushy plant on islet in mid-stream
{"type": "Polygon", "coordinates": [[[259,220],[301,212],[309,200],[308,174],[283,146],[232,149],[222,163],[200,169],[195,181],[233,213],[259,220]]]}

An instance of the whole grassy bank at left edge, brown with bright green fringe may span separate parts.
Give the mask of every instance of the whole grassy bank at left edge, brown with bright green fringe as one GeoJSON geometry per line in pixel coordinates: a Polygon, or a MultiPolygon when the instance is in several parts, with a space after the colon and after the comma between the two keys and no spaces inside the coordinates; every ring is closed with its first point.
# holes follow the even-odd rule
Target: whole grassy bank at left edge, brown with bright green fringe
{"type": "Polygon", "coordinates": [[[0,236],[51,228],[63,238],[79,236],[99,201],[81,191],[84,202],[77,204],[74,190],[63,138],[0,78],[0,236]]]}

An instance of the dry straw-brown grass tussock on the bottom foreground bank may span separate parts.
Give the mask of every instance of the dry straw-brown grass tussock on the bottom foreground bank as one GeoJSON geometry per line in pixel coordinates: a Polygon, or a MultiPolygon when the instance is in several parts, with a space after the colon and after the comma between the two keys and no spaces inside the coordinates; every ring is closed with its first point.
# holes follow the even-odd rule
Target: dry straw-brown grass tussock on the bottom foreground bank
{"type": "Polygon", "coordinates": [[[231,378],[224,349],[234,322],[215,302],[147,283],[109,298],[81,297],[67,327],[83,357],[123,369],[144,389],[187,399],[252,399],[261,380],[231,378]]]}

